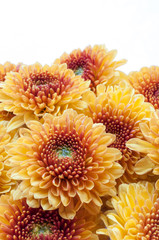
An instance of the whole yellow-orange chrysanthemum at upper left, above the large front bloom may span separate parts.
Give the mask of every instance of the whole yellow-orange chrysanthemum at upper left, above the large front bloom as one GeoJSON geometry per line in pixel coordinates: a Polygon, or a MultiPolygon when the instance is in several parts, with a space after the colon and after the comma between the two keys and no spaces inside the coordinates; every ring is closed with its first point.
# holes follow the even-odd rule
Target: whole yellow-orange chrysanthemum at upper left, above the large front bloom
{"type": "Polygon", "coordinates": [[[42,67],[37,63],[8,73],[0,87],[0,110],[25,119],[45,112],[61,114],[67,108],[83,110],[81,95],[88,90],[89,81],[75,76],[66,64],[42,67]]]}

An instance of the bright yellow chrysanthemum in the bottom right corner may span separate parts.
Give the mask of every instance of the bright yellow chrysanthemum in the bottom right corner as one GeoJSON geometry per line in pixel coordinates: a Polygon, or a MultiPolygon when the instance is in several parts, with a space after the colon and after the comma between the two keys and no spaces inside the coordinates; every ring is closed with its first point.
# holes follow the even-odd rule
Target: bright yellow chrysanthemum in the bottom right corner
{"type": "Polygon", "coordinates": [[[102,216],[111,240],[159,239],[159,193],[146,182],[121,184],[111,200],[114,210],[102,216]]]}

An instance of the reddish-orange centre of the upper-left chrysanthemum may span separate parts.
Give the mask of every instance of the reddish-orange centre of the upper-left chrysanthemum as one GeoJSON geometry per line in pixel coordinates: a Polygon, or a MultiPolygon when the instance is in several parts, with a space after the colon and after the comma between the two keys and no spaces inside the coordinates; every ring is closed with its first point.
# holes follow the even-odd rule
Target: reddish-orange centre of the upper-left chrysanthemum
{"type": "Polygon", "coordinates": [[[19,85],[17,91],[24,102],[23,107],[29,106],[30,110],[41,115],[52,112],[54,102],[59,101],[74,85],[69,76],[61,76],[58,72],[30,73],[30,77],[23,75],[22,78],[23,86],[19,85]]]}

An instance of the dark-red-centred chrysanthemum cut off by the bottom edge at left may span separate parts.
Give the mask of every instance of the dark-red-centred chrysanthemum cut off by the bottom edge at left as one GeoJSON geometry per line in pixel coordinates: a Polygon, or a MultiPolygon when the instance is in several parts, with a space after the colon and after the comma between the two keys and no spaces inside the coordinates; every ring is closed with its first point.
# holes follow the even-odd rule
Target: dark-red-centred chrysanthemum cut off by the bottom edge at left
{"type": "Polygon", "coordinates": [[[0,239],[3,240],[98,240],[97,220],[81,209],[74,219],[60,217],[58,210],[31,208],[25,199],[0,198],[0,239]]]}

